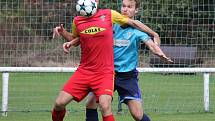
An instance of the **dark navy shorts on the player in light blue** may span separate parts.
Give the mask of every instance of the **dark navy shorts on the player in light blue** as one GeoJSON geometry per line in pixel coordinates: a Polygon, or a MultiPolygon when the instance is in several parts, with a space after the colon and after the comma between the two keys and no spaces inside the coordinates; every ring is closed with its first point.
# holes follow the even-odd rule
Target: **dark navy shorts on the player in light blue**
{"type": "Polygon", "coordinates": [[[115,72],[114,90],[117,90],[121,103],[127,104],[129,100],[142,101],[138,86],[138,71],[115,72]]]}

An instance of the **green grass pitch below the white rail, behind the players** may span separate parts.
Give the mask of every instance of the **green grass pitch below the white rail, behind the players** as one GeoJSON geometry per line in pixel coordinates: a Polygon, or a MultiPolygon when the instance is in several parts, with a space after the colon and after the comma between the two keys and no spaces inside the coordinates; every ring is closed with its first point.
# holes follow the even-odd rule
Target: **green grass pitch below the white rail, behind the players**
{"type": "MultiPolygon", "coordinates": [[[[70,73],[11,73],[9,112],[7,117],[0,116],[0,120],[50,121],[50,111],[55,97],[70,75],[70,73]]],[[[139,77],[145,112],[152,121],[215,120],[214,75],[210,76],[210,112],[207,113],[204,112],[202,74],[140,73],[139,77]]],[[[0,94],[2,94],[1,88],[2,83],[0,83],[0,94]]],[[[2,99],[0,103],[1,101],[2,99]]],[[[84,104],[85,100],[81,103],[70,103],[65,121],[84,121],[84,104]]],[[[117,93],[113,100],[113,110],[117,121],[133,120],[125,105],[122,114],[116,114],[117,93]]]]}

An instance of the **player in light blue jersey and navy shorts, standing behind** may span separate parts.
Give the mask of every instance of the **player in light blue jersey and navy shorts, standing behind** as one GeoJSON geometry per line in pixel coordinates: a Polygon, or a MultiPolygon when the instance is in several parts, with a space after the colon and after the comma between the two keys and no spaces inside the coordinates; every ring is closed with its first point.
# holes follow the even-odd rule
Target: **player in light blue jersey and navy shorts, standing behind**
{"type": "MultiPolygon", "coordinates": [[[[121,14],[134,19],[138,12],[139,0],[123,0],[121,14]]],[[[159,46],[144,32],[129,26],[115,24],[114,30],[114,67],[115,67],[115,90],[120,97],[120,102],[125,103],[135,121],[150,121],[142,107],[141,91],[138,86],[138,48],[140,42],[164,61],[171,63],[159,46]]],[[[156,38],[155,38],[156,39],[156,38]]],[[[159,38],[158,38],[159,40],[159,38]]],[[[157,41],[159,43],[160,41],[157,41]]],[[[97,105],[94,95],[88,96],[86,121],[98,121],[97,105]]]]}

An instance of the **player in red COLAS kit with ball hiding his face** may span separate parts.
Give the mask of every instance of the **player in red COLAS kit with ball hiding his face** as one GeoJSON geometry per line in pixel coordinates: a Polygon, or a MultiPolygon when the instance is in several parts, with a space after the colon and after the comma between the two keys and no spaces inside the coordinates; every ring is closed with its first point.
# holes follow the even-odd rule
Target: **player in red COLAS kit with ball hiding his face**
{"type": "Polygon", "coordinates": [[[91,17],[75,17],[72,33],[66,32],[62,26],[54,29],[54,36],[62,35],[68,41],[80,38],[81,61],[56,98],[53,121],[63,121],[66,105],[72,100],[80,102],[89,92],[95,94],[103,121],[114,121],[111,111],[114,86],[113,23],[128,24],[142,31],[147,29],[141,22],[110,9],[98,9],[91,17]]]}

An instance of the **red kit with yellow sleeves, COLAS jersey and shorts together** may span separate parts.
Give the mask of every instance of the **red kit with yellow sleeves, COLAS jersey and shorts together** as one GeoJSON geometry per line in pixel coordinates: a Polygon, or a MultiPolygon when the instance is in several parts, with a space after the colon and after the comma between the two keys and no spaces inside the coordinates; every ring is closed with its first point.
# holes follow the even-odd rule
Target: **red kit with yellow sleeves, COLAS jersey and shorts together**
{"type": "Polygon", "coordinates": [[[76,101],[92,91],[97,101],[101,95],[113,95],[114,58],[112,23],[124,24],[127,18],[113,10],[98,10],[92,17],[77,16],[72,25],[74,37],[80,37],[81,62],[63,87],[76,101]]]}

